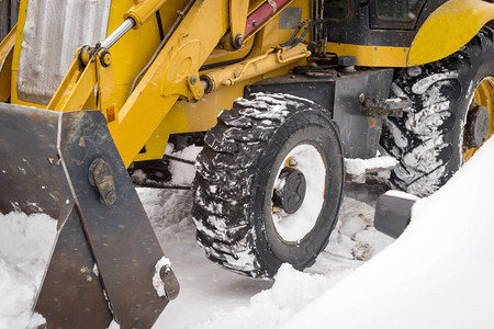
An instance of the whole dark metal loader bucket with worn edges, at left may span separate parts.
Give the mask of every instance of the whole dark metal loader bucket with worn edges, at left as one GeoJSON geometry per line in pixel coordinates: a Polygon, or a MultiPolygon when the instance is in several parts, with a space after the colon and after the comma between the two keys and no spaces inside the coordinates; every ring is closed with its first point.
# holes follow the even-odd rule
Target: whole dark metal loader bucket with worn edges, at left
{"type": "Polygon", "coordinates": [[[150,328],[179,285],[99,111],[0,104],[0,211],[58,234],[34,311],[46,328],[150,328]]]}

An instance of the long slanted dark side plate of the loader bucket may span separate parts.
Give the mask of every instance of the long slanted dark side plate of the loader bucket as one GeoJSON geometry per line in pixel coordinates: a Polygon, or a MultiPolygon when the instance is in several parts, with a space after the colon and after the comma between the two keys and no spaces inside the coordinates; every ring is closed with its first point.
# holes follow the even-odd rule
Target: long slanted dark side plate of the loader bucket
{"type": "Polygon", "coordinates": [[[149,328],[168,304],[153,286],[164,254],[106,121],[99,111],[64,113],[60,131],[60,157],[115,318],[121,328],[149,328]],[[97,158],[113,171],[116,202],[110,206],[88,179],[97,158]]]}

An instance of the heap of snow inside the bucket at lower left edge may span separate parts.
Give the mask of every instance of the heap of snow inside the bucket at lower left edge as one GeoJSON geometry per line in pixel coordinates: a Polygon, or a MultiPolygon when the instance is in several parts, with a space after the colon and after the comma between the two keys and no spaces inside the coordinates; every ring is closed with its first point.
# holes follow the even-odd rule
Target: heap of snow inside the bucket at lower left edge
{"type": "Polygon", "coordinates": [[[56,236],[47,215],[0,214],[0,328],[26,328],[56,236]]]}

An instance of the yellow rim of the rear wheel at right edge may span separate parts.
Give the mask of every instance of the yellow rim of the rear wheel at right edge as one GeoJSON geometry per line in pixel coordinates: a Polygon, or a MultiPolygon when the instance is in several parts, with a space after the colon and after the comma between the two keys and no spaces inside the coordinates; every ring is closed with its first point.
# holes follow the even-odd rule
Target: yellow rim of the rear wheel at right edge
{"type": "MultiPolygon", "coordinates": [[[[469,112],[471,112],[476,106],[485,106],[489,112],[489,132],[487,140],[494,134],[494,78],[484,78],[475,89],[473,94],[473,100],[470,103],[469,112]]],[[[467,125],[467,121],[465,121],[467,125]]],[[[485,141],[484,141],[485,143],[485,141]]],[[[469,147],[463,141],[463,160],[467,162],[476,152],[479,147],[469,147]]]]}

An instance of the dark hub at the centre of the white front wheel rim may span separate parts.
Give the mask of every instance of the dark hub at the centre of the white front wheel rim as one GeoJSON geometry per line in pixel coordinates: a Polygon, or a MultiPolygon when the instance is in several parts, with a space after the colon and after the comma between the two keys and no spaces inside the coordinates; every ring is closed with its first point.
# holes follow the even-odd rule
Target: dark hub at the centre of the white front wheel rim
{"type": "Polygon", "coordinates": [[[274,189],[273,205],[287,214],[295,213],[304,202],[306,182],[302,171],[285,167],[281,170],[279,180],[284,181],[281,188],[274,189]]]}

